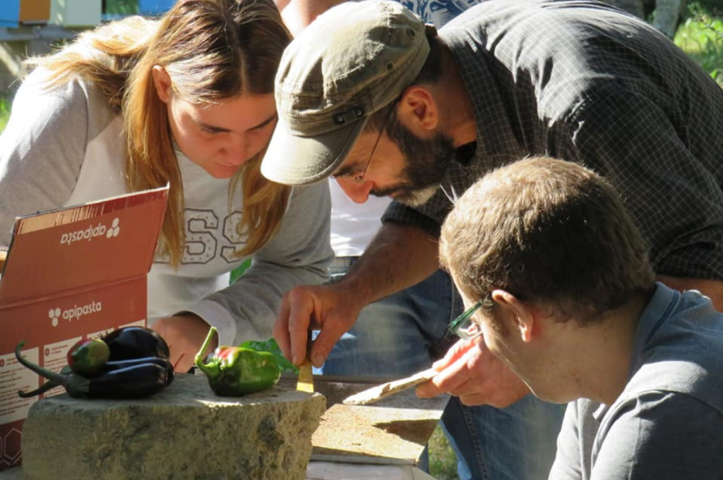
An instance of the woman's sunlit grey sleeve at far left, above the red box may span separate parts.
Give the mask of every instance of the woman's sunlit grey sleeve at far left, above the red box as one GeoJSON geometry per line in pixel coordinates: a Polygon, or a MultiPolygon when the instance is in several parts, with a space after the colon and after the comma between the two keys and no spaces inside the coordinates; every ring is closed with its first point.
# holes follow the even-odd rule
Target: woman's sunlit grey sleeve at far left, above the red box
{"type": "Polygon", "coordinates": [[[40,77],[23,82],[0,134],[0,245],[15,217],[66,204],[85,155],[89,92],[76,81],[41,90],[40,77]]]}

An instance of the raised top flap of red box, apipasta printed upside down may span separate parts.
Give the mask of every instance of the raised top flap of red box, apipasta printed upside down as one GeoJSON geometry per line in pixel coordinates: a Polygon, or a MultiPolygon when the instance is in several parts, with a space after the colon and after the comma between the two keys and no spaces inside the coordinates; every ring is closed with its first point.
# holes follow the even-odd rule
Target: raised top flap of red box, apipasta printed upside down
{"type": "Polygon", "coordinates": [[[19,217],[0,282],[0,306],[145,275],[168,186],[19,217]]]}

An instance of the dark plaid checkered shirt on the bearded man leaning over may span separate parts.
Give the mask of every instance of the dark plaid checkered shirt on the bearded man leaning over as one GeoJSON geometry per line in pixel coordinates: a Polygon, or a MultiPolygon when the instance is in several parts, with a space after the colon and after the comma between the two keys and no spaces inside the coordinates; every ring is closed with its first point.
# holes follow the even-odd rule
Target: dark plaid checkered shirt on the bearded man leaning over
{"type": "Polygon", "coordinates": [[[723,89],[646,23],[587,1],[479,4],[440,30],[474,108],[476,143],[439,191],[384,222],[440,225],[475,180],[544,154],[604,175],[658,274],[723,279],[723,89]]]}

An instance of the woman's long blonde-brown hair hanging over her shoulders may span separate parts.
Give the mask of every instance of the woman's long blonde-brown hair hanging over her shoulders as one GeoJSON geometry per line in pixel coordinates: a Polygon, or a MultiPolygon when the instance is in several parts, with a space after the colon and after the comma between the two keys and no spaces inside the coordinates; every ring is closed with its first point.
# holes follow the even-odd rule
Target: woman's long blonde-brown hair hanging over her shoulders
{"type": "MultiPolygon", "coordinates": [[[[272,0],[179,0],[160,20],[112,22],[82,33],[59,53],[27,63],[48,69],[54,84],[80,75],[121,109],[127,188],[171,184],[161,251],[178,266],[185,243],[183,182],[153,66],[166,70],[174,95],[193,104],[265,95],[273,93],[281,53],[290,40],[272,0]]],[[[263,154],[245,162],[229,186],[229,205],[239,184],[243,193],[238,228],[246,242],[237,256],[249,255],[273,237],[291,194],[290,187],[262,177],[263,154]]]]}

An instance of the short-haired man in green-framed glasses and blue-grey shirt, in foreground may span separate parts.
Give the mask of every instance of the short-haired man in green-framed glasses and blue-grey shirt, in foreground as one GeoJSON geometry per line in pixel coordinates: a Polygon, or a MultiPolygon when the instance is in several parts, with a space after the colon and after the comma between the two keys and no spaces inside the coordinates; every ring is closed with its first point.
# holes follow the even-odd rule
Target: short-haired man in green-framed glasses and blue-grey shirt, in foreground
{"type": "Polygon", "coordinates": [[[723,478],[723,315],[655,282],[606,180],[544,157],[501,167],[445,219],[440,262],[471,305],[450,328],[571,402],[550,479],[723,478]]]}

